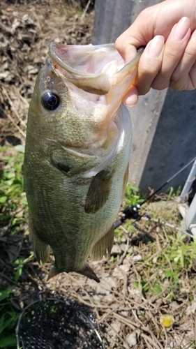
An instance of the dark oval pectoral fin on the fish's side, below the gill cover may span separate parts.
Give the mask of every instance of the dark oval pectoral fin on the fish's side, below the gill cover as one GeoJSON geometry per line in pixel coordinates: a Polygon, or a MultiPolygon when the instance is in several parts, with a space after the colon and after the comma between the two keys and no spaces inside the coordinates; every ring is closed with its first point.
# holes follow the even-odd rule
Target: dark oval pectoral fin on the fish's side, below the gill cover
{"type": "Polygon", "coordinates": [[[86,214],[95,214],[107,202],[112,184],[112,174],[112,171],[103,170],[93,177],[84,205],[86,214]]]}

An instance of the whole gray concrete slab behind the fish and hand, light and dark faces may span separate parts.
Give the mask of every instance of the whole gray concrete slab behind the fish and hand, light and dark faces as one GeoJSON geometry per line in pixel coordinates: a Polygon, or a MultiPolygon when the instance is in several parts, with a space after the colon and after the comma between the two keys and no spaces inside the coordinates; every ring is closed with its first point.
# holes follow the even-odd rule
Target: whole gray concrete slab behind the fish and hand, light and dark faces
{"type": "MultiPolygon", "coordinates": [[[[146,7],[159,0],[96,0],[93,44],[111,43],[146,7]]],[[[196,156],[196,91],[149,91],[129,108],[133,122],[133,147],[129,181],[158,188],[196,156]]],[[[184,185],[190,168],[169,186],[184,185]]],[[[166,190],[167,187],[164,188],[166,190]]]]}

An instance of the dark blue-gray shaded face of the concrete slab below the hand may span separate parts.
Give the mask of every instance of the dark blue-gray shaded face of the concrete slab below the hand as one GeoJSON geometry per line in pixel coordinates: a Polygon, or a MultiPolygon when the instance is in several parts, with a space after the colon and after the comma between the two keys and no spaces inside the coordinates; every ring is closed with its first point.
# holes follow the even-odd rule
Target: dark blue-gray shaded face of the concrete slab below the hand
{"type": "MultiPolygon", "coordinates": [[[[196,91],[168,89],[142,175],[137,184],[144,192],[148,186],[156,188],[195,156],[196,91]]],[[[183,187],[190,168],[181,172],[169,186],[183,187]]]]}

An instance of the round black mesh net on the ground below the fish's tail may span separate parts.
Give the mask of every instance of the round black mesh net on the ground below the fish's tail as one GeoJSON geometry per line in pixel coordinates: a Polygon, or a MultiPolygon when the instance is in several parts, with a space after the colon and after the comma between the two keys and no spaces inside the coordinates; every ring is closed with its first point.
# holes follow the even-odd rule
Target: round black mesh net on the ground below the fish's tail
{"type": "Polygon", "coordinates": [[[28,306],[17,323],[17,348],[105,349],[93,322],[61,299],[28,306]]]}

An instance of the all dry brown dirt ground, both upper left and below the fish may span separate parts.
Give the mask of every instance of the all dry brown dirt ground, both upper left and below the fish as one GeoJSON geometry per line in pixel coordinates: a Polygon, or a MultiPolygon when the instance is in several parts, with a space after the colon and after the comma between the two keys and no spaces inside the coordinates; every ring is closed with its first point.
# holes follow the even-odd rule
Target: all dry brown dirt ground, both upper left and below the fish
{"type": "MultiPolygon", "coordinates": [[[[86,3],[84,1],[82,15],[76,0],[67,3],[63,0],[1,1],[1,145],[25,142],[29,101],[38,70],[47,58],[50,42],[54,40],[78,45],[91,42],[93,11],[85,11],[86,3]]],[[[173,287],[174,278],[163,275],[158,260],[159,255],[164,255],[165,229],[169,233],[179,226],[179,213],[173,201],[172,204],[166,201],[160,208],[160,219],[163,212],[172,210],[176,219],[172,228],[166,224],[163,229],[157,217],[151,221],[151,225],[144,218],[140,223],[140,234],[133,232],[132,228],[119,228],[112,258],[109,261],[90,262],[100,283],[74,273],[60,274],[47,282],[52,256],[50,262],[42,267],[35,258],[30,258],[22,276],[15,283],[10,263],[12,255],[1,249],[1,287],[13,288],[13,304],[21,310],[45,295],[68,300],[95,320],[107,349],[196,348],[193,345],[196,324],[195,269],[182,269],[179,272],[181,281],[173,287]],[[148,242],[152,243],[151,246],[148,242]],[[157,279],[163,286],[161,292],[144,292],[144,279],[148,285],[157,279]],[[174,318],[174,326],[162,325],[160,318],[167,314],[174,318]]],[[[151,213],[153,207],[149,211],[151,213]]],[[[26,224],[24,233],[27,231],[26,224]]],[[[1,242],[6,248],[11,246],[10,251],[14,255],[28,259],[31,254],[28,235],[6,237],[4,240],[2,237],[1,242]]],[[[167,263],[172,270],[171,262],[168,260],[167,263]]],[[[101,348],[90,343],[88,348],[101,348]]],[[[81,348],[86,347],[81,345],[81,348]]]]}

